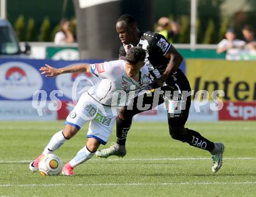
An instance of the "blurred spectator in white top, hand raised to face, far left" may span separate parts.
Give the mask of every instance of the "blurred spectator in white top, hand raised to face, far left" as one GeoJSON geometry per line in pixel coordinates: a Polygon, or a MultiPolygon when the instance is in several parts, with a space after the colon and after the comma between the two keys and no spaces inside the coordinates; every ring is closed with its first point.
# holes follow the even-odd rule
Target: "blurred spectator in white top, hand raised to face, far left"
{"type": "Polygon", "coordinates": [[[58,31],[54,38],[55,44],[66,44],[74,42],[74,37],[70,31],[70,22],[69,20],[61,20],[61,31],[58,31]]]}

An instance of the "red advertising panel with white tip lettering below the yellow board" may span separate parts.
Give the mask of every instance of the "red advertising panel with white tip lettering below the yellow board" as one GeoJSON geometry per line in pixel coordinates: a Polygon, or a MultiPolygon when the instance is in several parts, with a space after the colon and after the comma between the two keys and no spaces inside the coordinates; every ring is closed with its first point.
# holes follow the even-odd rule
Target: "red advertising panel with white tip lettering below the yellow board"
{"type": "Polygon", "coordinates": [[[219,120],[256,120],[256,102],[224,102],[219,120]]]}

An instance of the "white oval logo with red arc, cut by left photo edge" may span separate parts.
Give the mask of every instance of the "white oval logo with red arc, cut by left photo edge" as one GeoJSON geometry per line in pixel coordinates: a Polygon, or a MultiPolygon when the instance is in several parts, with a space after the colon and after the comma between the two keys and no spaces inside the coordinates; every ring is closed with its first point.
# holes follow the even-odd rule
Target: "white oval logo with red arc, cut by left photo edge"
{"type": "Polygon", "coordinates": [[[0,96],[6,99],[28,99],[42,88],[40,73],[27,63],[3,63],[0,70],[0,96]]]}

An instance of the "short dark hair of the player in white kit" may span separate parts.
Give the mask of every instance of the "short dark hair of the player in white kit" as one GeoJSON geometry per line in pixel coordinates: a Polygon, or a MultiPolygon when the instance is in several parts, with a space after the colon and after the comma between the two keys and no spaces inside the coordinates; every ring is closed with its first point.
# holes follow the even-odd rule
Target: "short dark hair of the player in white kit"
{"type": "Polygon", "coordinates": [[[146,57],[146,52],[140,46],[135,46],[126,53],[125,60],[129,62],[131,65],[135,65],[140,61],[144,61],[146,57]]]}

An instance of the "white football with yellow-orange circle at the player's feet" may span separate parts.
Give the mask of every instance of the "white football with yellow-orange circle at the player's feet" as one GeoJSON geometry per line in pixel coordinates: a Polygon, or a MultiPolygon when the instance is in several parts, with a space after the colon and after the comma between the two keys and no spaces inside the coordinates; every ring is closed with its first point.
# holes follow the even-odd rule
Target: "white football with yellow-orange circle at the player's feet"
{"type": "Polygon", "coordinates": [[[59,175],[62,170],[62,161],[58,156],[49,153],[38,163],[40,174],[45,176],[59,175]]]}

